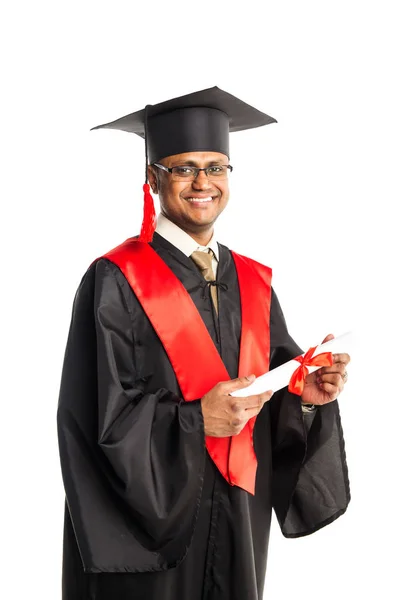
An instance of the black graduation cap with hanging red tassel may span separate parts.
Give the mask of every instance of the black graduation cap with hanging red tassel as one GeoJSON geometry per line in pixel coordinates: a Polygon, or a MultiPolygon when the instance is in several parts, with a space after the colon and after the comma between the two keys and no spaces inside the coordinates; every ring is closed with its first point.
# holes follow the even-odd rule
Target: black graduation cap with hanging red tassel
{"type": "Polygon", "coordinates": [[[229,157],[229,132],[276,123],[276,119],[239,98],[212,87],[186,94],[97,125],[93,129],[118,129],[145,140],[146,182],[144,217],[139,239],[151,241],[156,226],[147,165],[184,152],[220,152],[229,157]]]}

